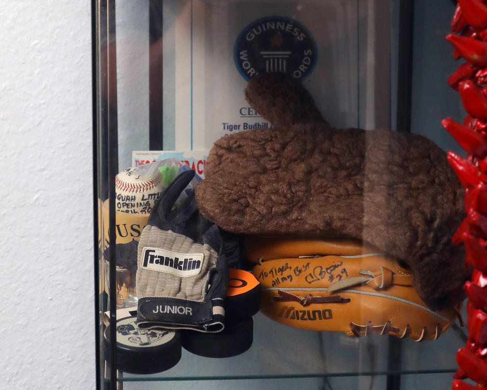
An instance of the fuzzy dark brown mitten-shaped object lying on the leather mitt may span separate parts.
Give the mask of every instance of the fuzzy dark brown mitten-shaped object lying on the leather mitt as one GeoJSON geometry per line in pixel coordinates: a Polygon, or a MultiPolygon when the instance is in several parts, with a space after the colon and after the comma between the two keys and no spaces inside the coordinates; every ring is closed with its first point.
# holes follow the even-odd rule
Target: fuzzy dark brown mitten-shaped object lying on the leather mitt
{"type": "Polygon", "coordinates": [[[279,125],[215,142],[196,188],[201,213],[243,234],[348,236],[403,260],[430,307],[463,299],[463,189],[431,140],[330,127],[300,84],[266,75],[249,103],[279,125]]]}

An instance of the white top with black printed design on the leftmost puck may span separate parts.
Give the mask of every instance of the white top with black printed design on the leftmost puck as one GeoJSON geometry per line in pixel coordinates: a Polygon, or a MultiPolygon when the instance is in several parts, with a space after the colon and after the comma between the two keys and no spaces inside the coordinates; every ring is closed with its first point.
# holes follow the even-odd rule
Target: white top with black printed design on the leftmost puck
{"type": "Polygon", "coordinates": [[[155,347],[166,344],[174,338],[172,331],[145,330],[137,327],[137,317],[117,321],[117,343],[130,347],[155,347]]]}

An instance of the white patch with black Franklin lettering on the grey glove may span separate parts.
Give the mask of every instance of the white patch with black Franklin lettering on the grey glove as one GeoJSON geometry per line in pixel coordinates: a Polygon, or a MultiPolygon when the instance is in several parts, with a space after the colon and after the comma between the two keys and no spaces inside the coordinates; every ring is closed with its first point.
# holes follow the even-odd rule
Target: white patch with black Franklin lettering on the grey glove
{"type": "Polygon", "coordinates": [[[140,267],[187,278],[199,274],[203,259],[203,253],[178,253],[161,248],[144,247],[140,267]]]}

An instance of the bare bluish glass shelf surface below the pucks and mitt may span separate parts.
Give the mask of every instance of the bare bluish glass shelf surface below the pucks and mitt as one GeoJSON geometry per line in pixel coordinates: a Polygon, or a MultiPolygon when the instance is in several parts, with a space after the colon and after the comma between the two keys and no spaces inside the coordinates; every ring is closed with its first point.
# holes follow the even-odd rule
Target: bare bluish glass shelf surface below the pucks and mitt
{"type": "Polygon", "coordinates": [[[119,381],[454,373],[458,368],[456,351],[465,345],[462,337],[465,337],[466,328],[458,326],[450,328],[437,340],[418,343],[379,334],[351,338],[332,332],[305,331],[276,323],[261,313],[253,318],[253,344],[239,356],[212,359],[183,349],[181,361],[173,368],[152,375],[124,372],[119,381]],[[398,347],[389,348],[390,342],[398,347]],[[394,356],[388,356],[389,350],[394,356]],[[400,370],[391,369],[390,362],[398,358],[400,370]]]}

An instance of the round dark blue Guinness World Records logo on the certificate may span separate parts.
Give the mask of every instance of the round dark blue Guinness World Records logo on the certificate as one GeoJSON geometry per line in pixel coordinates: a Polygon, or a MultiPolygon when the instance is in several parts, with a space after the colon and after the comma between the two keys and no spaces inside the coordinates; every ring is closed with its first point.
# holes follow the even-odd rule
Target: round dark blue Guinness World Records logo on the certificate
{"type": "Polygon", "coordinates": [[[309,30],[295,19],[270,16],[240,32],[234,60],[245,80],[258,73],[285,73],[302,80],[316,65],[317,47],[309,30]]]}

